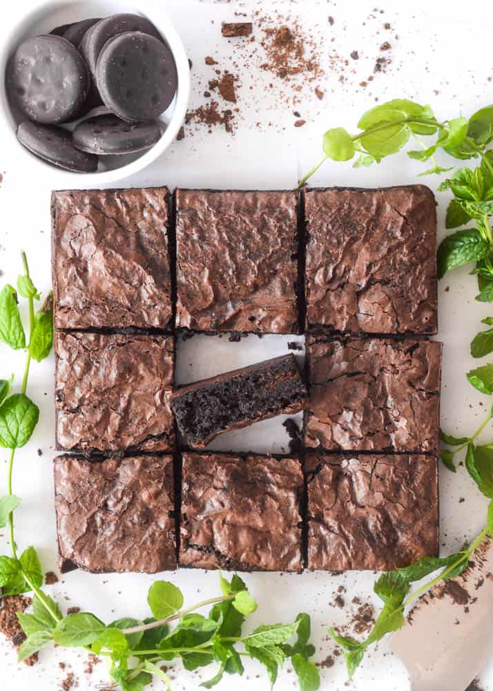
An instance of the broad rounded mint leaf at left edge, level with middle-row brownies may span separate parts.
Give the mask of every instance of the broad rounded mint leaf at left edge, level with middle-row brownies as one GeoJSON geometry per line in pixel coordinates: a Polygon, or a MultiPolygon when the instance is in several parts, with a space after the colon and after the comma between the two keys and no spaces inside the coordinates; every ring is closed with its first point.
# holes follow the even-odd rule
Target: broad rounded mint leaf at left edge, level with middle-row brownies
{"type": "Polygon", "coordinates": [[[29,441],[39,419],[39,408],[23,393],[0,406],[0,446],[20,448],[29,441]]]}

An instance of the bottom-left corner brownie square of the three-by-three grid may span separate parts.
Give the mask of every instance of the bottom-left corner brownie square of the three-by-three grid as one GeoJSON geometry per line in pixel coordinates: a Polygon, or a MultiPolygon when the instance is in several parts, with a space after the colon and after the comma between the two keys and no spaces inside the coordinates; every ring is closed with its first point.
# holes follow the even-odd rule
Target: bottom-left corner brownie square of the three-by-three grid
{"type": "Polygon", "coordinates": [[[176,568],[173,457],[55,459],[61,571],[176,568]]]}

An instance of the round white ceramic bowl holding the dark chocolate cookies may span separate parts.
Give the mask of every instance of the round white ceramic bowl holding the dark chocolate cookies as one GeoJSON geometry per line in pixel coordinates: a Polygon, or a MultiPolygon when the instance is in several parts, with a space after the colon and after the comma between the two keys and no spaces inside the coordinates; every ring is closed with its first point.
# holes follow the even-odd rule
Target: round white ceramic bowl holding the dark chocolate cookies
{"type": "Polygon", "coordinates": [[[56,184],[66,187],[80,187],[81,184],[88,187],[110,184],[144,169],[175,140],[184,121],[186,106],[189,101],[190,67],[182,40],[162,10],[162,4],[164,4],[162,0],[139,0],[138,4],[119,0],[53,0],[40,2],[35,10],[24,16],[17,25],[12,27],[8,41],[0,47],[0,131],[2,137],[8,136],[12,139],[14,155],[19,156],[19,158],[22,157],[26,165],[34,169],[33,172],[43,175],[43,173],[48,172],[47,169],[49,168],[50,176],[55,178],[56,184]],[[4,75],[8,58],[14,48],[30,36],[48,33],[55,26],[61,26],[61,24],[72,21],[88,19],[89,17],[107,17],[119,12],[134,12],[148,17],[162,34],[175,58],[178,88],[173,102],[160,116],[165,128],[164,133],[157,144],[143,153],[101,156],[97,173],[72,173],[59,169],[41,158],[37,158],[17,141],[15,134],[17,120],[10,108],[5,89],[4,75]]]}

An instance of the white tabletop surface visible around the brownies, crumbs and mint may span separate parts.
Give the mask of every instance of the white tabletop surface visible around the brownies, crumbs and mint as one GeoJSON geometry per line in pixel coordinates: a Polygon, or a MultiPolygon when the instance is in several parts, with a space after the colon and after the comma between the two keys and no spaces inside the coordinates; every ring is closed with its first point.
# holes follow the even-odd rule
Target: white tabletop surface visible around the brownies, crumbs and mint
{"type": "MultiPolygon", "coordinates": [[[[231,43],[220,35],[221,21],[234,21],[235,10],[253,12],[262,7],[262,15],[268,14],[267,2],[245,1],[210,3],[192,0],[156,0],[157,7],[166,8],[175,22],[193,61],[192,105],[204,102],[202,92],[212,74],[204,64],[204,57],[212,55],[223,68],[242,74],[242,87],[238,90],[242,120],[235,135],[216,128],[213,133],[206,129],[187,129],[186,138],[176,142],[153,166],[119,186],[145,186],[167,184],[186,187],[236,187],[236,188],[289,188],[320,157],[322,132],[329,126],[343,125],[355,129],[358,117],[375,103],[393,97],[410,97],[432,104],[441,118],[469,114],[493,100],[493,74],[490,41],[490,22],[487,21],[485,3],[453,3],[450,0],[430,2],[414,0],[404,3],[394,0],[370,0],[368,2],[342,0],[336,2],[289,2],[275,4],[284,15],[298,16],[307,31],[320,44],[325,77],[320,88],[325,98],[318,101],[313,94],[315,84],[307,84],[294,104],[276,99],[282,90],[280,80],[270,73],[259,72],[253,66],[234,68],[231,59],[231,43]],[[375,4],[385,10],[381,15],[374,10],[375,4]],[[456,12],[454,11],[456,6],[456,12]],[[329,26],[327,16],[335,19],[329,26]],[[483,17],[483,19],[481,19],[483,17]],[[389,22],[392,31],[383,30],[389,22]],[[398,39],[395,39],[395,35],[398,39]],[[334,41],[331,39],[334,38],[334,41]],[[392,48],[392,64],[385,75],[376,75],[367,88],[359,86],[362,79],[371,74],[379,46],[389,40],[392,48]],[[349,54],[358,50],[359,60],[351,61],[349,54]],[[338,80],[340,59],[351,63],[345,68],[345,81],[338,80]],[[331,57],[332,56],[332,57],[331,57]],[[351,73],[354,68],[355,73],[351,73]],[[273,89],[267,95],[266,85],[273,89]],[[307,120],[305,126],[296,129],[293,122],[299,111],[307,120]],[[260,128],[256,122],[263,124],[260,128]],[[193,136],[191,134],[193,133],[193,136]]],[[[2,3],[0,41],[23,15],[37,3],[16,0],[2,3]]],[[[255,22],[255,17],[253,17],[255,22]]],[[[289,23],[289,22],[288,22],[289,23]]],[[[237,57],[238,61],[238,57],[237,57]]],[[[240,62],[240,61],[238,61],[240,62]]],[[[10,132],[0,132],[0,269],[3,283],[15,283],[20,269],[19,249],[28,252],[32,276],[43,292],[50,288],[50,189],[53,184],[48,174],[33,176],[28,159],[17,155],[12,146],[10,132]],[[15,153],[14,153],[15,152],[15,153]]],[[[351,169],[350,164],[327,164],[320,169],[313,182],[317,184],[386,185],[414,182],[419,164],[398,155],[374,169],[351,169]]],[[[427,178],[434,189],[436,178],[427,178]]],[[[84,178],[67,182],[65,187],[84,187],[84,178]]],[[[438,193],[439,232],[443,234],[443,215],[447,195],[438,193]]],[[[465,270],[458,270],[440,283],[440,334],[445,343],[443,363],[442,426],[452,433],[471,433],[483,418],[489,401],[473,390],[464,373],[473,365],[469,343],[479,321],[493,314],[493,307],[474,301],[475,281],[465,270]],[[445,287],[450,287],[445,292],[445,287]],[[481,403],[483,406],[481,406],[481,403]]],[[[227,339],[206,339],[207,350],[200,348],[204,339],[197,337],[185,344],[180,352],[177,375],[180,383],[202,372],[205,363],[208,373],[219,372],[242,363],[269,357],[273,350],[284,352],[284,337],[258,340],[250,337],[242,343],[229,343],[227,339]],[[213,345],[217,343],[217,349],[213,345]],[[270,345],[272,348],[270,347],[270,345]],[[193,366],[189,363],[193,359],[193,366]]],[[[291,339],[292,340],[292,339],[291,339]]],[[[11,371],[19,375],[23,356],[12,355],[6,348],[0,350],[0,375],[11,371]]],[[[53,358],[42,365],[33,363],[30,375],[30,395],[41,407],[41,423],[31,442],[16,455],[14,491],[21,495],[22,504],[16,513],[17,540],[21,547],[34,544],[41,553],[46,570],[57,570],[55,513],[52,502],[52,457],[54,455],[53,358]],[[43,455],[37,455],[41,448],[43,455]]],[[[275,420],[260,424],[256,430],[244,433],[247,441],[235,433],[238,444],[251,447],[254,443],[263,451],[279,450],[287,446],[287,435],[275,420]],[[240,439],[240,441],[238,441],[240,439]]],[[[487,430],[486,440],[492,439],[487,430]]],[[[220,444],[224,442],[219,442],[220,444]]],[[[0,469],[6,470],[6,454],[0,455],[0,469]]],[[[0,481],[0,489],[3,484],[0,481]]],[[[481,528],[485,513],[485,500],[474,489],[464,468],[456,475],[441,469],[441,546],[443,553],[456,550],[465,538],[470,538],[481,528]],[[465,498],[465,501],[461,501],[465,498]]],[[[0,536],[0,551],[8,551],[6,536],[0,536]]],[[[166,574],[180,585],[186,602],[214,596],[218,593],[218,577],[214,572],[180,571],[166,574]]],[[[313,622],[313,642],[317,647],[317,660],[323,660],[334,651],[327,637],[327,626],[349,621],[354,606],[351,599],[360,596],[363,601],[374,601],[371,589],[373,574],[347,573],[339,577],[331,574],[282,576],[280,574],[251,574],[246,577],[251,591],[258,600],[259,612],[251,617],[252,626],[258,623],[291,620],[299,611],[309,612],[313,622]],[[339,609],[331,603],[338,585],[347,588],[346,607],[339,609]]],[[[68,574],[61,583],[50,588],[62,605],[78,605],[93,611],[110,621],[119,616],[144,617],[146,589],[153,579],[131,574],[90,576],[81,571],[68,574]]],[[[467,641],[464,641],[467,645],[467,641]]],[[[10,645],[0,641],[0,679],[8,688],[37,688],[40,691],[58,688],[65,673],[58,661],[72,665],[79,678],[79,689],[98,688],[105,679],[104,665],[98,665],[92,676],[82,672],[85,655],[75,652],[50,651],[41,654],[35,668],[18,666],[10,645]],[[7,681],[8,680],[8,681],[7,681]]],[[[177,663],[171,671],[175,678],[174,688],[196,688],[200,678],[206,676],[183,672],[177,663]]],[[[407,691],[409,682],[403,665],[387,650],[385,643],[371,650],[365,663],[356,673],[352,683],[345,683],[345,669],[341,659],[330,669],[322,669],[322,689],[365,691],[407,691]]],[[[493,690],[493,664],[480,675],[485,690],[493,690]]],[[[292,688],[293,673],[286,673],[278,681],[278,688],[292,688]]],[[[101,686],[99,687],[101,688],[101,686]]],[[[267,689],[267,679],[257,665],[248,665],[246,675],[240,679],[226,677],[222,689],[267,689]],[[260,678],[258,678],[260,674],[260,678]]]]}

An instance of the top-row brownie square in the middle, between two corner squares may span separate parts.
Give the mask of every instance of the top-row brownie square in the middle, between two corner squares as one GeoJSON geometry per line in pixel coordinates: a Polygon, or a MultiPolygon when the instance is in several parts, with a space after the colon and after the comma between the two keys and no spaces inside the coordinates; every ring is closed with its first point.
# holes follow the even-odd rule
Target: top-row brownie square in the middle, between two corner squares
{"type": "Polygon", "coordinates": [[[295,191],[177,189],[177,328],[298,332],[295,191]]]}

